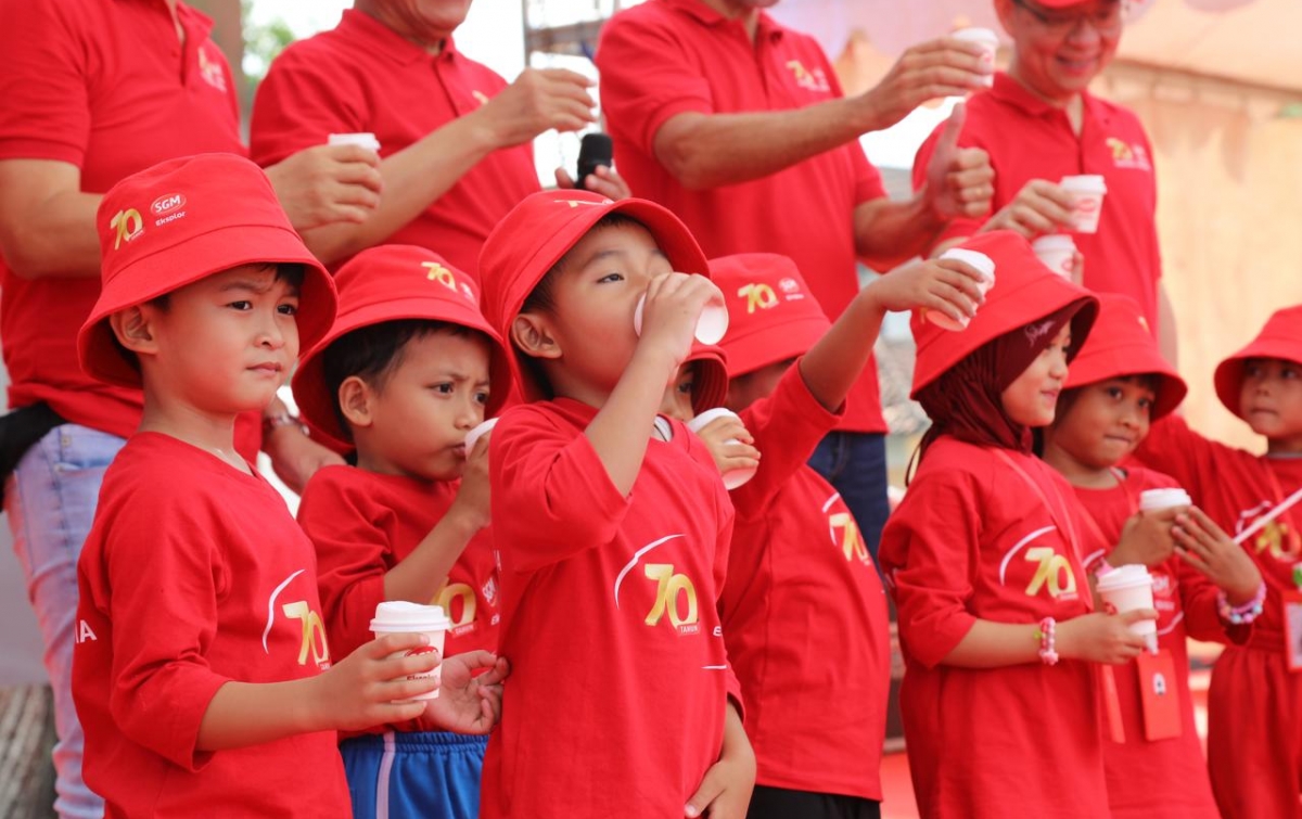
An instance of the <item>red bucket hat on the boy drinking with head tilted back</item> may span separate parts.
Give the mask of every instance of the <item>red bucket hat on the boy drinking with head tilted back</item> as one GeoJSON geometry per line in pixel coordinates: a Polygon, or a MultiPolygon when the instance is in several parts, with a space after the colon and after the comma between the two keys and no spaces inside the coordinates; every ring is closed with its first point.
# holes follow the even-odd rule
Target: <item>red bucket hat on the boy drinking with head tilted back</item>
{"type": "Polygon", "coordinates": [[[706,257],[687,227],[654,202],[612,202],[586,190],[544,190],[526,197],[497,223],[479,254],[484,316],[510,348],[516,383],[525,401],[551,396],[510,342],[510,326],[538,283],[608,214],[624,214],[642,223],[673,270],[710,276],[706,257]]]}

